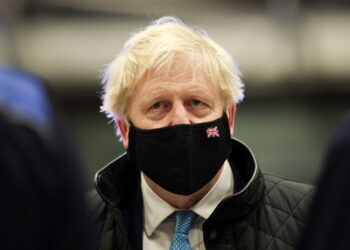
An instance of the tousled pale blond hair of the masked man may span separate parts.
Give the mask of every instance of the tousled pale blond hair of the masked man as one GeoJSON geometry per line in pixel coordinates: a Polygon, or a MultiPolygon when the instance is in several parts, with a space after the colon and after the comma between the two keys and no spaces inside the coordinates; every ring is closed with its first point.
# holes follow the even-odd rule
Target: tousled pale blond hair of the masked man
{"type": "Polygon", "coordinates": [[[181,60],[219,87],[226,108],[243,99],[243,83],[232,57],[209,36],[178,18],[163,17],[134,34],[109,64],[103,77],[101,110],[114,120],[128,117],[128,104],[140,80],[151,70],[170,72],[181,60]]]}

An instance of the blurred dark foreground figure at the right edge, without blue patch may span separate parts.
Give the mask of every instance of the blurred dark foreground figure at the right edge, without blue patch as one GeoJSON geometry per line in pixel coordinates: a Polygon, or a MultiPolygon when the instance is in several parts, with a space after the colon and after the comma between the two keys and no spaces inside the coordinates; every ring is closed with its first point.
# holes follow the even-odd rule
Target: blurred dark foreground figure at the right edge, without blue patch
{"type": "Polygon", "coordinates": [[[350,112],[330,138],[300,250],[350,249],[350,112]]]}

